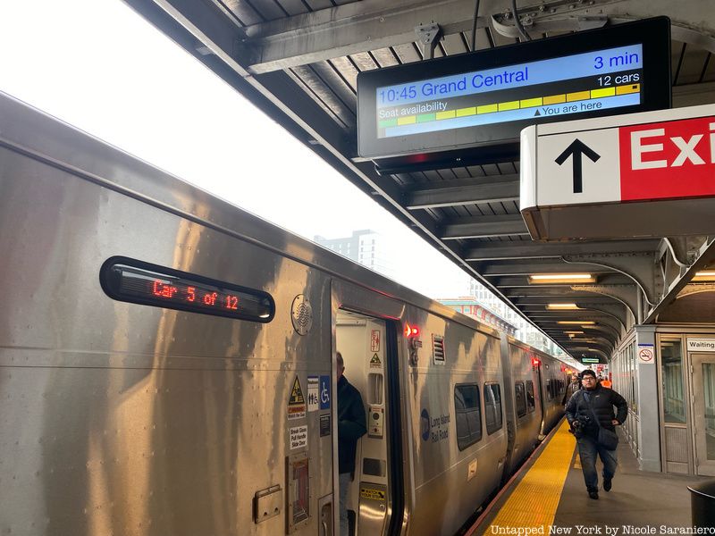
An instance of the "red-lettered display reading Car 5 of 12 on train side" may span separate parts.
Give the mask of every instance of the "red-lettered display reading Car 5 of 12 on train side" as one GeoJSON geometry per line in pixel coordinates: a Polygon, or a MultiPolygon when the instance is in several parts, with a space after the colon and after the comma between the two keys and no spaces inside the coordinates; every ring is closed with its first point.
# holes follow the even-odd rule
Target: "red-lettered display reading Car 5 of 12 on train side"
{"type": "Polygon", "coordinates": [[[109,297],[130,303],[253,322],[271,322],[275,314],[273,297],[263,290],[127,257],[108,259],[102,265],[99,279],[109,297]]]}

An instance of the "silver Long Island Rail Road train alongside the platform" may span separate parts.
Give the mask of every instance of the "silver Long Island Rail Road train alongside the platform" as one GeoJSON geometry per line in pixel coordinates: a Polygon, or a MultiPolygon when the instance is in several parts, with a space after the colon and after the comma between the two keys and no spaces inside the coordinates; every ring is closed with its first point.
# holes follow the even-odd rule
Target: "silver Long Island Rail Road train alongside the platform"
{"type": "Polygon", "coordinates": [[[0,95],[0,534],[453,534],[562,416],[551,356],[0,95]]]}

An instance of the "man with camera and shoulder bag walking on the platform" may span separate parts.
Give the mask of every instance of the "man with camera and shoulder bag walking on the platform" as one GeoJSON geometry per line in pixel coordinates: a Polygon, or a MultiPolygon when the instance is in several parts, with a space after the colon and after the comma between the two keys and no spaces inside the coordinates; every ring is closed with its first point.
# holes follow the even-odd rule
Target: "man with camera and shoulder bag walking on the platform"
{"type": "Polygon", "coordinates": [[[601,387],[592,370],[581,373],[581,383],[583,389],[568,400],[566,418],[576,436],[588,496],[598,498],[596,456],[603,462],[603,490],[610,491],[618,465],[615,427],[626,420],[628,404],[615,390],[601,387]],[[617,415],[613,406],[618,409],[617,415]],[[609,436],[615,444],[609,444],[609,436]]]}

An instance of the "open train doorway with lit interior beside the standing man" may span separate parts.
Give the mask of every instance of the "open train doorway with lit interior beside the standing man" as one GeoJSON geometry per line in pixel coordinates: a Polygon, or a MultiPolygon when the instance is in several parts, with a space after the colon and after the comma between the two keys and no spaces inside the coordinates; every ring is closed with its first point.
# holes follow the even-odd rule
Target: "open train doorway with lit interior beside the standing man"
{"type": "MultiPolygon", "coordinates": [[[[357,440],[355,473],[349,482],[349,534],[389,533],[391,521],[398,521],[391,517],[401,518],[402,512],[401,465],[391,460],[392,452],[401,452],[400,411],[391,411],[399,408],[391,403],[399,391],[393,369],[397,332],[382,320],[340,310],[335,341],[345,366],[343,375],[359,391],[366,414],[367,430],[357,440]]],[[[336,421],[340,433],[337,415],[336,421]]]]}

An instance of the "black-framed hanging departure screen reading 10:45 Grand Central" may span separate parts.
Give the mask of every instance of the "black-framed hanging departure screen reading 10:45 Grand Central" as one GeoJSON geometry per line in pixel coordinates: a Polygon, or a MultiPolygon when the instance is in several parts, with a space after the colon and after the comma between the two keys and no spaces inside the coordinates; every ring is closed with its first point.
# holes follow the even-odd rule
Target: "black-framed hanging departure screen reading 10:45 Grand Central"
{"type": "Polygon", "coordinates": [[[669,25],[658,17],[362,72],[359,154],[514,142],[537,122],[668,108],[669,25]]]}

